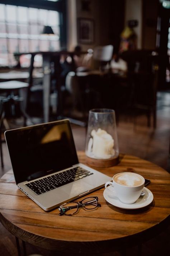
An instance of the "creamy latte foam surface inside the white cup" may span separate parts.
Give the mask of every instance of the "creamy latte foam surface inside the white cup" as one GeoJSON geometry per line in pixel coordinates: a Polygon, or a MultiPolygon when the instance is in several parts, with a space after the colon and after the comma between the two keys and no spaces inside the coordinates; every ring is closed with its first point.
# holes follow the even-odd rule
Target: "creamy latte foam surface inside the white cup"
{"type": "Polygon", "coordinates": [[[127,187],[139,186],[143,183],[143,179],[136,174],[122,173],[114,177],[114,181],[120,185],[127,187]]]}

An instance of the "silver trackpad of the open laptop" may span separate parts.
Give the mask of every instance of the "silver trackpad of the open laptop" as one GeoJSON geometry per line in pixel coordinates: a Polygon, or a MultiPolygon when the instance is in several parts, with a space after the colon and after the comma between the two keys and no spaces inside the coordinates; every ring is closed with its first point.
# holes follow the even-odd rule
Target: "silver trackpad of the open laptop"
{"type": "Polygon", "coordinates": [[[84,181],[74,182],[72,184],[67,184],[62,187],[62,190],[69,195],[69,197],[74,197],[92,189],[92,186],[84,181]],[[65,187],[65,188],[64,188],[65,187]]]}

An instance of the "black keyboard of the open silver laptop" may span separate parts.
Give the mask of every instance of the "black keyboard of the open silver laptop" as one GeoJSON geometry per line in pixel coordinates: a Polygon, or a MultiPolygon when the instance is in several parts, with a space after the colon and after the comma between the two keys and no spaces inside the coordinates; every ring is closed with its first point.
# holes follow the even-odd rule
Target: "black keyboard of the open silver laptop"
{"type": "Polygon", "coordinates": [[[25,185],[37,195],[40,195],[55,188],[71,183],[75,180],[85,178],[92,174],[93,172],[90,172],[78,166],[67,171],[48,176],[43,179],[29,182],[25,185]]]}

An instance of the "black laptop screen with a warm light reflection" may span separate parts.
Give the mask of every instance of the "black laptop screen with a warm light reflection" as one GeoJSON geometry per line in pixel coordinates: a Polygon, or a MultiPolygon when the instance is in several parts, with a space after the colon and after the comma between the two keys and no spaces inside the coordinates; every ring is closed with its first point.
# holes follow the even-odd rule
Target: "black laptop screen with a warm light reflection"
{"type": "Polygon", "coordinates": [[[69,120],[5,132],[16,184],[78,163],[69,120]]]}

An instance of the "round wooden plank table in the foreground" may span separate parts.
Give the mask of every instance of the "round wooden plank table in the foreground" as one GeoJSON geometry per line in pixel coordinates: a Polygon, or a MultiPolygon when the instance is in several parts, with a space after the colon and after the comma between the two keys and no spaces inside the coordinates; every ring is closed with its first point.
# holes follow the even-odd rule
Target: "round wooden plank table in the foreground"
{"type": "MultiPolygon", "coordinates": [[[[78,152],[78,156],[85,163],[85,154],[78,152]]],[[[74,216],[59,216],[58,209],[44,212],[25,196],[8,171],[0,180],[1,223],[23,241],[63,253],[112,252],[154,237],[170,221],[170,175],[138,157],[121,154],[120,160],[117,166],[96,169],[109,176],[130,171],[150,179],[147,188],[154,195],[150,205],[137,210],[117,208],[105,201],[101,188],[90,194],[98,196],[101,208],[90,212],[81,208],[74,216]]]]}

